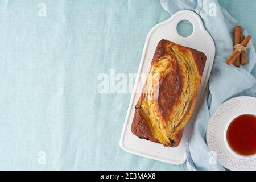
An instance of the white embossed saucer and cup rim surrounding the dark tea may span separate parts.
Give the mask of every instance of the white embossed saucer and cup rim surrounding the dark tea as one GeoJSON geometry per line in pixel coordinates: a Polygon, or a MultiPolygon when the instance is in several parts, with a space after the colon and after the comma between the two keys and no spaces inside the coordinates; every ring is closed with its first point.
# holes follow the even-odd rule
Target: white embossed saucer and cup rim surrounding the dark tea
{"type": "Polygon", "coordinates": [[[225,142],[225,128],[230,119],[242,114],[256,115],[256,98],[236,97],[222,104],[208,123],[207,143],[210,151],[216,152],[218,162],[229,170],[256,171],[256,157],[249,159],[239,158],[232,154],[225,142]]]}

